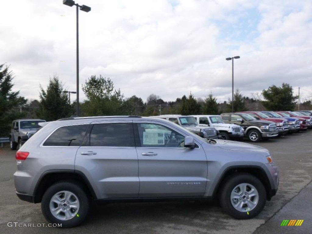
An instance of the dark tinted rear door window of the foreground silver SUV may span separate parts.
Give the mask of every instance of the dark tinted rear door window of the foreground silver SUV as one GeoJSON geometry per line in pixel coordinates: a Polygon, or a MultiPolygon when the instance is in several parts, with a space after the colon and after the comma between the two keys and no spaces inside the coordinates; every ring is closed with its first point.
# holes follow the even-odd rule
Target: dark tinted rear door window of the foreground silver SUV
{"type": "Polygon", "coordinates": [[[132,123],[94,124],[90,146],[134,147],[132,123]]]}

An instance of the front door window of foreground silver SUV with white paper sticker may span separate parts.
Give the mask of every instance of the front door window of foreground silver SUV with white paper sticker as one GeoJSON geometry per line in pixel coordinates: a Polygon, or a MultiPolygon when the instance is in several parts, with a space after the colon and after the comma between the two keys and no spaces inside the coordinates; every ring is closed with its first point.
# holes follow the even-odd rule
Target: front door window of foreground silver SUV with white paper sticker
{"type": "Polygon", "coordinates": [[[138,123],[142,147],[184,147],[184,136],[160,124],[138,123]]]}

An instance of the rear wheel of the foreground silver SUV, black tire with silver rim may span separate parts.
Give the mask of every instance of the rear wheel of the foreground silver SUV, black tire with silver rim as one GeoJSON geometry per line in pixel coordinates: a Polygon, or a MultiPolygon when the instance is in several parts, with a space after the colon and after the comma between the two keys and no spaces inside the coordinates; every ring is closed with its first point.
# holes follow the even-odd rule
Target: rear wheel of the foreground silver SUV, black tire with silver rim
{"type": "Polygon", "coordinates": [[[87,217],[89,208],[90,200],[87,194],[75,182],[60,182],[51,185],[43,194],[41,201],[41,210],[46,220],[50,223],[61,224],[61,227],[78,226],[87,217]],[[56,198],[54,201],[60,201],[59,204],[52,202],[53,197],[56,198]],[[56,212],[53,214],[51,209],[55,209],[56,212]]]}

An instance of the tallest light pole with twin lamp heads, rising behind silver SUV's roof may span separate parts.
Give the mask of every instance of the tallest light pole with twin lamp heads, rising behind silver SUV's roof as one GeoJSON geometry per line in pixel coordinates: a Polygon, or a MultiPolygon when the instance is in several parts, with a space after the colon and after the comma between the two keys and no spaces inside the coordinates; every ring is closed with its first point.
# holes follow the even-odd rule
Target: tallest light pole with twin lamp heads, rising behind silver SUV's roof
{"type": "Polygon", "coordinates": [[[79,116],[79,27],[78,27],[78,7],[80,7],[81,11],[84,12],[89,12],[91,11],[91,7],[88,7],[86,5],[82,5],[80,6],[79,4],[75,3],[75,1],[73,0],[63,0],[63,4],[66,6],[76,6],[76,74],[77,74],[77,81],[76,81],[76,93],[77,93],[77,101],[76,101],[76,112],[77,112],[77,116],[79,116]]]}

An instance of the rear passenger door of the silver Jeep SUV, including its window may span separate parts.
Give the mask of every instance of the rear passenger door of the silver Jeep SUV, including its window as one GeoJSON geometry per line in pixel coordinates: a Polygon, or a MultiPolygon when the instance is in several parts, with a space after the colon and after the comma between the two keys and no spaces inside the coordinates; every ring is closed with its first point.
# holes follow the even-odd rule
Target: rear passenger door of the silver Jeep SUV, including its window
{"type": "Polygon", "coordinates": [[[98,199],[138,197],[138,156],[132,122],[91,124],[77,151],[75,169],[87,175],[98,199]]]}

